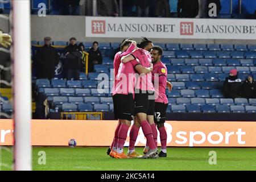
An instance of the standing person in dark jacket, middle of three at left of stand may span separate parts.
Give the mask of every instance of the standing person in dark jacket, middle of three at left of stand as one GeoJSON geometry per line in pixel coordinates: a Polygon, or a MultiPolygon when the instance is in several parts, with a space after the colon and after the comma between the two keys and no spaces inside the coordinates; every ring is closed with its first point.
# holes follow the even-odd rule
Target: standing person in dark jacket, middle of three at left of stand
{"type": "Polygon", "coordinates": [[[65,47],[67,80],[79,80],[82,52],[76,44],[76,38],[69,39],[69,45],[65,47]]]}

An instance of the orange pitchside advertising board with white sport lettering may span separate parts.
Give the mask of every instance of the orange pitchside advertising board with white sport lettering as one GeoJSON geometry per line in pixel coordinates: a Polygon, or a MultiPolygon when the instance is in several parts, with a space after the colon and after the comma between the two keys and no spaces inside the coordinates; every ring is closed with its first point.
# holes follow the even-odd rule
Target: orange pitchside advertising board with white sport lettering
{"type": "MultiPolygon", "coordinates": [[[[67,146],[71,138],[78,146],[109,146],[117,121],[32,120],[33,146],[67,146]]],[[[256,147],[256,122],[167,121],[167,146],[256,147]]],[[[130,131],[130,130],[129,130],[130,131]]],[[[13,121],[0,119],[0,145],[13,145],[13,121]]],[[[139,130],[136,146],[146,139],[139,130]]],[[[158,144],[160,139],[158,137],[158,144]]],[[[129,145],[129,133],[125,146],[129,145]]]]}

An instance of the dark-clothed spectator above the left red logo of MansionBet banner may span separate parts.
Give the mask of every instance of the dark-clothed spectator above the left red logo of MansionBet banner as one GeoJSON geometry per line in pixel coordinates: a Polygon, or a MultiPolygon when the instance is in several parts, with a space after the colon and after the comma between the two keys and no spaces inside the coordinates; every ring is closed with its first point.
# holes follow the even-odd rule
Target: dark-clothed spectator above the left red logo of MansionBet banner
{"type": "Polygon", "coordinates": [[[119,7],[116,0],[98,0],[97,10],[99,16],[118,16],[119,7]]]}

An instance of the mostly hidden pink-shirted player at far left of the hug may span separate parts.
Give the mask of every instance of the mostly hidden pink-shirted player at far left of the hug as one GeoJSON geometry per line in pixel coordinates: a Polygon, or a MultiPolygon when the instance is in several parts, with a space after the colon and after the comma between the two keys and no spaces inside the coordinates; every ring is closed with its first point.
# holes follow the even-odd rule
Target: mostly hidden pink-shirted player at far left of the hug
{"type": "MultiPolygon", "coordinates": [[[[116,78],[117,73],[118,73],[119,65],[121,64],[121,55],[123,55],[123,56],[128,55],[129,53],[131,53],[134,50],[134,48],[136,46],[137,46],[137,43],[135,41],[133,41],[132,39],[125,39],[125,40],[123,40],[123,42],[120,46],[121,51],[119,51],[115,54],[114,62],[113,62],[114,82],[113,82],[112,93],[113,93],[113,90],[115,88],[115,83],[116,83],[115,78],[116,78]]],[[[115,129],[113,142],[112,142],[111,146],[108,148],[108,151],[107,151],[108,155],[110,154],[110,151],[112,150],[113,147],[115,147],[115,148],[117,147],[117,135],[118,135],[118,131],[119,131],[120,126],[121,126],[121,121],[118,121],[118,125],[115,129]]]]}

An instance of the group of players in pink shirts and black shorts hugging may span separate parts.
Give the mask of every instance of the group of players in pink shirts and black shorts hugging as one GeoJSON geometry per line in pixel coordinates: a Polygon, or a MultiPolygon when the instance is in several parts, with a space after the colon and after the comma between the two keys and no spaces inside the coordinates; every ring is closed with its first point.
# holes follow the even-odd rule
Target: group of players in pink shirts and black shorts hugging
{"type": "Polygon", "coordinates": [[[168,100],[166,87],[167,68],[162,63],[163,49],[154,46],[152,41],[143,38],[137,45],[133,39],[125,39],[121,51],[114,57],[114,83],[112,89],[114,115],[118,119],[112,145],[107,154],[112,158],[159,158],[166,157],[167,133],[164,128],[168,100]],[[129,150],[123,152],[123,145],[130,130],[129,150]],[[135,142],[142,127],[147,139],[144,155],[135,151],[135,142]],[[158,132],[160,133],[161,151],[158,151],[158,132]]]}

